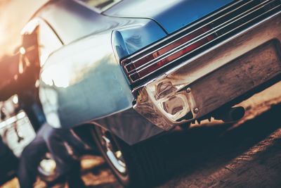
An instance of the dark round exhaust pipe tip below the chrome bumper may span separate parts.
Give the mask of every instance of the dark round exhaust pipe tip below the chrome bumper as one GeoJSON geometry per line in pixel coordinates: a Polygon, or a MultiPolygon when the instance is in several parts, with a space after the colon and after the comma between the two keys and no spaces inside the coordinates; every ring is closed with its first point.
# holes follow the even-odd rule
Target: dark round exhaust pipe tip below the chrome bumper
{"type": "Polygon", "coordinates": [[[235,122],[244,117],[245,109],[242,106],[232,107],[229,109],[223,109],[223,111],[218,111],[214,115],[216,120],[223,120],[225,123],[235,122]]]}

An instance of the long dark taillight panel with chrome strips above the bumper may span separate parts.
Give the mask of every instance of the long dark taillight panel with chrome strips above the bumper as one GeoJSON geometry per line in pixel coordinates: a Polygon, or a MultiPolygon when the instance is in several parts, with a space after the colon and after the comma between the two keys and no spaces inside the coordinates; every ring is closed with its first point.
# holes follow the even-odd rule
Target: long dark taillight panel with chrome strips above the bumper
{"type": "Polygon", "coordinates": [[[236,1],[232,6],[221,8],[148,49],[125,58],[121,61],[122,68],[132,87],[136,87],[148,76],[157,76],[165,67],[182,63],[179,60],[183,57],[191,58],[214,44],[223,42],[280,11],[280,7],[280,0],[236,1]]]}

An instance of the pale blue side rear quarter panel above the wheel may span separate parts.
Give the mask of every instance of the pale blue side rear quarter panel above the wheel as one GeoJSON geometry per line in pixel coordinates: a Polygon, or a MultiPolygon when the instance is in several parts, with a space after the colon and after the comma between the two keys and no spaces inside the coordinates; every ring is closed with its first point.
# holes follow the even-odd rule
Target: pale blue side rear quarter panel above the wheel
{"type": "Polygon", "coordinates": [[[162,130],[132,110],[111,35],[103,32],[55,51],[41,71],[40,99],[53,127],[96,123],[134,144],[162,130]]]}

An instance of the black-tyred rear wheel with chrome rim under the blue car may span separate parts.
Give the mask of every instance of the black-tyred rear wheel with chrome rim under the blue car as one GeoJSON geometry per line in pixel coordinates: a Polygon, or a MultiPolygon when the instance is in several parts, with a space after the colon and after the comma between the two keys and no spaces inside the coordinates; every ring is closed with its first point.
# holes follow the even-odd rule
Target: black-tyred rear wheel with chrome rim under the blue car
{"type": "Polygon", "coordinates": [[[157,144],[129,146],[103,127],[93,128],[93,139],[117,180],[124,187],[151,187],[166,173],[157,144]]]}

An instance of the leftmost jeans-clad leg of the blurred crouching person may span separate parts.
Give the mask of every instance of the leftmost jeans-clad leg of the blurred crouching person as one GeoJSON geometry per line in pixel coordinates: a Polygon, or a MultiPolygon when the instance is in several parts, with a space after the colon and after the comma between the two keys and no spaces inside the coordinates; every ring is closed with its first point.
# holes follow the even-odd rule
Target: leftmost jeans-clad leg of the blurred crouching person
{"type": "Polygon", "coordinates": [[[41,158],[44,157],[47,146],[42,137],[44,127],[42,127],[35,139],[25,147],[20,156],[18,167],[18,180],[21,188],[32,188],[37,177],[37,167],[41,158]]]}

